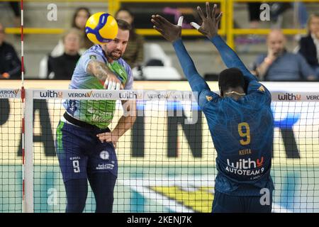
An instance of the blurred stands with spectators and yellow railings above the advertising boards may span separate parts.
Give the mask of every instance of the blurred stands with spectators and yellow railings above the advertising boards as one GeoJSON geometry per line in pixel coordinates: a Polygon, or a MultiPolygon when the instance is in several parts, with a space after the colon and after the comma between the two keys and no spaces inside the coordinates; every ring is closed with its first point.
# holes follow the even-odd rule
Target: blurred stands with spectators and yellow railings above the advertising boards
{"type": "MultiPolygon", "coordinates": [[[[225,69],[216,49],[196,33],[189,23],[198,21],[196,6],[203,1],[162,3],[116,1],[26,1],[24,6],[24,55],[26,79],[71,79],[79,57],[91,47],[84,33],[92,13],[106,11],[131,24],[128,48],[123,59],[133,69],[137,80],[183,80],[177,57],[170,43],[152,29],[150,16],[159,13],[177,23],[184,16],[183,36],[186,48],[207,80],[217,80],[225,69]],[[47,19],[48,4],[56,4],[57,20],[47,19]]],[[[219,10],[227,0],[218,1],[219,10]]],[[[264,8],[262,8],[264,9],[264,8]]],[[[233,3],[233,28],[247,28],[234,35],[233,48],[261,81],[319,80],[319,1],[233,3]],[[261,5],[269,6],[269,21],[261,21],[261,5]],[[260,33],[254,31],[262,31],[260,33]],[[298,32],[295,30],[298,29],[298,32]]],[[[225,21],[224,21],[225,22],[225,21]]],[[[21,79],[21,9],[18,1],[0,1],[0,78],[21,79]]],[[[229,23],[228,23],[229,24],[229,23]]],[[[221,25],[223,26],[223,25],[221,25]]],[[[225,26],[226,28],[226,26],[225,26]]],[[[228,32],[222,34],[228,40],[228,32]]]]}

